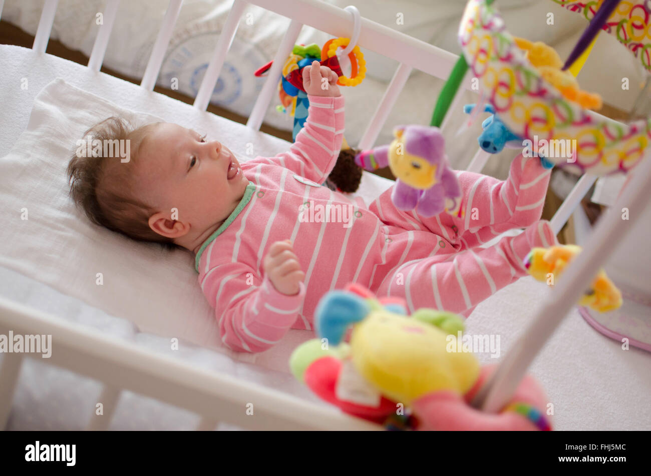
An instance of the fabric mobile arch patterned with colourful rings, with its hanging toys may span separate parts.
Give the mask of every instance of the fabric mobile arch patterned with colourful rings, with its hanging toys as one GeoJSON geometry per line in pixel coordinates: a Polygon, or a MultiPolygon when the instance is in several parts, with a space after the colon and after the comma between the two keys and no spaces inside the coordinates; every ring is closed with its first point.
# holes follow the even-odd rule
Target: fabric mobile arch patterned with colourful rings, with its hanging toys
{"type": "Polygon", "coordinates": [[[581,90],[575,76],[602,29],[616,35],[651,71],[651,42],[639,34],[648,31],[651,10],[646,4],[631,7],[628,2],[618,8],[620,0],[590,2],[587,6],[574,1],[553,1],[574,10],[581,5],[586,18],[592,16],[564,62],[546,44],[508,34],[503,19],[490,7],[492,0],[469,1],[459,29],[464,54],[441,91],[431,124],[441,124],[471,68],[479,80],[480,98],[488,102],[488,107],[480,103],[478,107],[466,107],[466,112],[471,114],[471,120],[482,111],[493,113],[482,124],[482,139],[487,134],[492,139],[484,140],[486,147],[480,142],[486,152],[499,152],[508,139],[514,138],[528,140],[534,152],[538,152],[539,143],[544,147],[557,141],[572,141],[572,155],[546,157],[544,165],[556,165],[579,175],[628,172],[642,160],[651,144],[651,120],[621,124],[590,112],[589,109],[601,107],[602,99],[598,94],[581,90]],[[492,127],[498,123],[504,127],[492,127]]]}

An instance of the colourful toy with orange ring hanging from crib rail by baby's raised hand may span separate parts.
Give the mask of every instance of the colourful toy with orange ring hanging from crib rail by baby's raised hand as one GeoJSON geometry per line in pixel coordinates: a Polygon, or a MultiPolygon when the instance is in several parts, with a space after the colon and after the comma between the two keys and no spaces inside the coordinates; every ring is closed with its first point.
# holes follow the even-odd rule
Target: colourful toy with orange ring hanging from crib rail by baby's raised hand
{"type": "MultiPolygon", "coordinates": [[[[357,86],[362,83],[366,76],[366,61],[364,55],[357,46],[357,38],[361,21],[359,11],[355,7],[346,7],[352,12],[354,19],[352,38],[332,38],[323,47],[312,43],[309,45],[297,44],[292,53],[283,64],[283,76],[278,83],[278,96],[281,104],[277,111],[294,116],[292,127],[292,140],[303,129],[307,119],[307,111],[310,101],[307,92],[303,87],[303,68],[316,60],[322,66],[327,66],[337,74],[339,86],[357,86]],[[350,65],[350,75],[346,76],[344,70],[350,65]]],[[[273,61],[268,62],[255,72],[256,76],[263,76],[270,68],[273,61]]],[[[354,153],[344,138],[342,150],[337,159],[328,180],[327,186],[340,192],[354,192],[361,181],[361,169],[353,161],[354,153]]]]}

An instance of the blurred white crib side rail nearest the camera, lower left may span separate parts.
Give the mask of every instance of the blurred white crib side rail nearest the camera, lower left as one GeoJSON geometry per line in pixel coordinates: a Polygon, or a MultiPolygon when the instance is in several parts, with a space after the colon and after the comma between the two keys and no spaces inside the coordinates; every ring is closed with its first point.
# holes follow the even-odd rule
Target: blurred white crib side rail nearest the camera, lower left
{"type": "Polygon", "coordinates": [[[6,334],[8,330],[14,334],[51,335],[51,356],[43,359],[41,354],[4,354],[0,368],[0,428],[7,421],[21,360],[30,357],[104,382],[98,403],[103,404],[105,414],[97,417],[93,412],[89,429],[108,427],[122,390],[197,412],[203,417],[200,426],[225,421],[255,429],[381,429],[335,408],[198,369],[0,297],[0,332],[6,334]],[[247,415],[247,404],[253,404],[253,415],[247,415]]]}

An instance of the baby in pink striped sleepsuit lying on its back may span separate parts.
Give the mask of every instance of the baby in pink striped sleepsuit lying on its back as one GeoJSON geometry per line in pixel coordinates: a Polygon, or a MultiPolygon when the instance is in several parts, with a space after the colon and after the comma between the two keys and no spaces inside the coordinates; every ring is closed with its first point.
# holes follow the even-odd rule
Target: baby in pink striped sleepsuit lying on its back
{"type": "Polygon", "coordinates": [[[522,261],[531,248],[555,245],[548,222],[539,221],[550,175],[539,159],[519,155],[505,181],[456,172],[462,218],[400,211],[393,187],[365,206],[320,185],[344,132],[336,82],[326,66],[306,66],[309,116],[296,142],[242,164],[218,140],[176,124],[132,129],[110,118],[87,134],[130,140],[130,161],[73,157],[72,197],[96,224],[191,250],[222,341],[247,352],[268,349],[290,328],[311,329],[318,300],[348,282],[402,297],[410,312],[467,316],[527,274],[522,261]],[[304,213],[337,205],[354,208],[350,222],[304,213]],[[526,229],[478,248],[510,228],[526,229]]]}

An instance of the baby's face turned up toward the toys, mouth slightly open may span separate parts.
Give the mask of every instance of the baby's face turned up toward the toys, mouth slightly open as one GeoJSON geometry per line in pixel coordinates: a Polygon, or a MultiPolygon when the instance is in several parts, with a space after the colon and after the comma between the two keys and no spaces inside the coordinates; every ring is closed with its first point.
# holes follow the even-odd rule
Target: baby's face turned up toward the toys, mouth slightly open
{"type": "Polygon", "coordinates": [[[229,217],[249,183],[228,148],[169,123],[152,126],[137,169],[145,199],[171,218],[176,208],[178,220],[189,223],[194,234],[229,217]]]}

